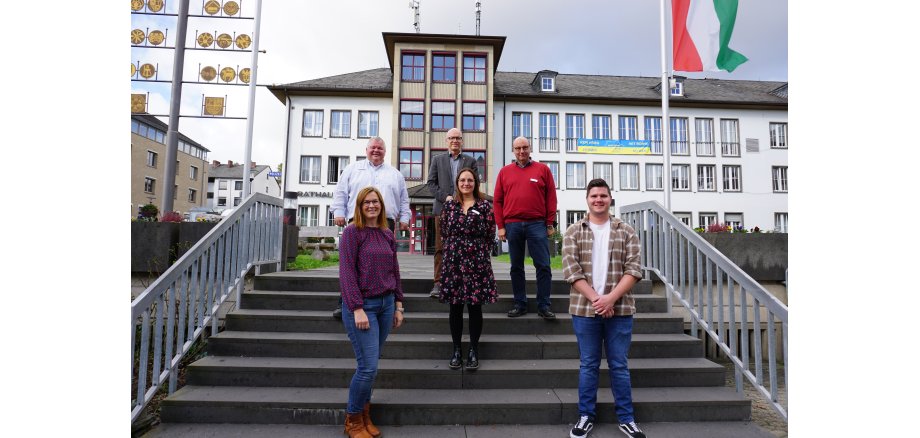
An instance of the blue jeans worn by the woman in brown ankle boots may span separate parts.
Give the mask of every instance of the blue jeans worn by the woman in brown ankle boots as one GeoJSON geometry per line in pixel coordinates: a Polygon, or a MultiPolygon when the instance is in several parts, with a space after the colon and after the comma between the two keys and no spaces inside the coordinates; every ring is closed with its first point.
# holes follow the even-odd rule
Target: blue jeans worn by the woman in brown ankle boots
{"type": "Polygon", "coordinates": [[[393,294],[384,297],[365,298],[364,313],[370,322],[370,328],[359,330],[355,327],[355,314],[348,308],[342,309],[342,323],[355,350],[358,368],[348,387],[348,413],[357,414],[364,411],[364,405],[371,401],[374,379],[377,377],[377,364],[383,343],[393,327],[393,312],[396,304],[393,294]]]}

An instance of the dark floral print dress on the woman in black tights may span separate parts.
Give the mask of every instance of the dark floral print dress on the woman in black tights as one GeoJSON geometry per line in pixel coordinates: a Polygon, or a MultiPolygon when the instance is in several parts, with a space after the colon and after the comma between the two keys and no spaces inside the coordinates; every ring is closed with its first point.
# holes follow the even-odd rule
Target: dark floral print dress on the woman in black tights
{"type": "Polygon", "coordinates": [[[459,202],[447,201],[441,211],[441,239],[440,301],[473,305],[498,301],[491,259],[495,244],[492,204],[478,200],[464,214],[459,202]]]}

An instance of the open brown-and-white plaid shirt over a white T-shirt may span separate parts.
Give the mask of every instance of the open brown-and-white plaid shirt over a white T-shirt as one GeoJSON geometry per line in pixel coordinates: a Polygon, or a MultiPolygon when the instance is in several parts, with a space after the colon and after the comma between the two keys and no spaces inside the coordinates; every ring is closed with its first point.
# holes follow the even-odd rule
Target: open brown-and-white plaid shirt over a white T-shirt
{"type": "MultiPolygon", "coordinates": [[[[594,232],[588,223],[588,217],[572,224],[565,230],[562,240],[562,273],[565,281],[573,285],[569,290],[569,313],[578,316],[594,316],[591,301],[575,289],[575,282],[585,280],[593,285],[591,278],[591,251],[594,248],[594,232]]],[[[629,274],[642,278],[639,265],[639,236],[625,222],[610,216],[610,265],[607,267],[607,281],[604,290],[609,293],[623,275],[629,274]]],[[[615,316],[628,316],[636,313],[636,300],[632,292],[626,292],[613,306],[615,316]]]]}

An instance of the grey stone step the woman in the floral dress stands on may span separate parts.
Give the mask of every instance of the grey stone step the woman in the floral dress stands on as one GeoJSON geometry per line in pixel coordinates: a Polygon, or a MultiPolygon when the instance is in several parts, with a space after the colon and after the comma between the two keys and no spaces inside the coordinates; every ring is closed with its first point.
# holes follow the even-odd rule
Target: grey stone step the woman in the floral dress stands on
{"type": "MultiPolygon", "coordinates": [[[[466,351],[464,350],[464,353],[466,351]]],[[[376,389],[570,388],[578,386],[578,359],[492,360],[477,370],[452,370],[442,359],[382,359],[376,389]]],[[[722,386],[725,368],[703,358],[630,359],[633,388],[722,386]]],[[[208,356],[188,368],[187,384],[348,388],[354,358],[208,356]]],[[[606,362],[599,387],[609,388],[606,362]]]]}

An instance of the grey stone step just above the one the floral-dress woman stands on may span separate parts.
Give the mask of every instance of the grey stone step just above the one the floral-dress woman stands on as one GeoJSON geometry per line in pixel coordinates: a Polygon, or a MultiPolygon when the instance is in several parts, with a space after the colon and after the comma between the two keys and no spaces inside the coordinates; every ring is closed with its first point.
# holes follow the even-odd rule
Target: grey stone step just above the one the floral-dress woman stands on
{"type": "MultiPolygon", "coordinates": [[[[558,321],[557,321],[558,322],[558,321]]],[[[486,327],[486,330],[488,328],[486,327]]],[[[464,336],[464,346],[468,336],[464,336]]],[[[483,357],[493,359],[575,359],[575,335],[496,335],[483,333],[479,340],[483,357]]],[[[381,357],[386,359],[443,359],[452,351],[449,334],[391,333],[381,357]]],[[[288,333],[225,330],[208,338],[212,356],[329,357],[353,358],[354,350],[344,333],[288,333]]],[[[703,343],[676,334],[635,334],[630,358],[702,357],[703,343]]]]}

